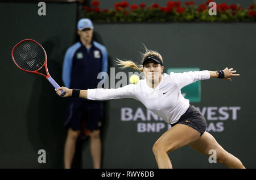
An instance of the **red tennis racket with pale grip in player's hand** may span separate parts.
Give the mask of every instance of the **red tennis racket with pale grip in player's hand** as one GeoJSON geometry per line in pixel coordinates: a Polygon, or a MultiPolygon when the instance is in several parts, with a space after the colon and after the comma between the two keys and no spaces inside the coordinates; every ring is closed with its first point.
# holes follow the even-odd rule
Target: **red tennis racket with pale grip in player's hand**
{"type": "MultiPolygon", "coordinates": [[[[55,89],[60,87],[49,75],[46,51],[35,40],[24,39],[20,41],[11,51],[11,57],[19,69],[46,77],[55,89]],[[43,67],[46,68],[46,74],[39,73],[43,67]]],[[[65,95],[63,90],[61,90],[61,95],[65,95]]]]}

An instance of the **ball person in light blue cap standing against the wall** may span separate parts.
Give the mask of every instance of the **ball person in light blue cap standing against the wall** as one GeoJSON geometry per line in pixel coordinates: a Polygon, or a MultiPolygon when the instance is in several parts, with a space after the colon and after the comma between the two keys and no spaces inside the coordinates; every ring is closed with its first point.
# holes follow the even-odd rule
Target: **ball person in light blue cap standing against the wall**
{"type": "MultiPolygon", "coordinates": [[[[90,19],[80,19],[77,23],[80,41],[68,48],[63,64],[63,82],[71,89],[97,88],[98,73],[108,70],[106,48],[92,40],[93,24],[90,19]]],[[[71,97],[65,124],[68,128],[64,147],[64,168],[71,168],[76,141],[80,135],[90,136],[90,152],[93,167],[101,168],[100,127],[103,115],[101,101],[71,97]],[[88,132],[86,135],[84,132],[88,132]],[[83,135],[82,135],[83,134],[83,135]]]]}

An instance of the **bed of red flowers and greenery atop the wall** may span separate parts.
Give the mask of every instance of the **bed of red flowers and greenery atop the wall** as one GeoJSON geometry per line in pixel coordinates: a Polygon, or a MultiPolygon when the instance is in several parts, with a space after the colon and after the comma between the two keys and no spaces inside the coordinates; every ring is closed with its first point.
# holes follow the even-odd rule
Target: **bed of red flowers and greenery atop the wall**
{"type": "Polygon", "coordinates": [[[217,15],[209,15],[209,0],[201,5],[195,1],[168,1],[166,6],[158,3],[152,5],[129,5],[127,1],[117,2],[114,9],[100,9],[100,2],[92,1],[91,7],[84,6],[84,17],[93,22],[255,22],[256,1],[247,9],[240,5],[217,4],[217,15]]]}

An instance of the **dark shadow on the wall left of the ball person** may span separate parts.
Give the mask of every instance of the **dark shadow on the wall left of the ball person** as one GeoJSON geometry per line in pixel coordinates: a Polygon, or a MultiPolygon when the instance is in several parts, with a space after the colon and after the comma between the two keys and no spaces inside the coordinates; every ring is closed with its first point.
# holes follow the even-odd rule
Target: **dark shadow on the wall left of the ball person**
{"type": "MultiPolygon", "coordinates": [[[[61,65],[51,58],[52,41],[42,44],[48,56],[48,70],[60,86],[61,65]]],[[[27,131],[35,153],[46,150],[46,164],[40,168],[63,168],[63,149],[67,132],[63,127],[67,99],[56,95],[54,87],[42,76],[35,76],[27,108],[27,131]]]]}

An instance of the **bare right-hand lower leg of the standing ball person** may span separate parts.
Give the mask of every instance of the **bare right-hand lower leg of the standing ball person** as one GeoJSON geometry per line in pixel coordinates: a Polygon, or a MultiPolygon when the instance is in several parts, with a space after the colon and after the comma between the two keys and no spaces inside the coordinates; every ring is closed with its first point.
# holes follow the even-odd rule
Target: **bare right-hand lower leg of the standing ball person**
{"type": "Polygon", "coordinates": [[[90,131],[90,154],[92,155],[93,168],[101,168],[101,137],[100,130],[90,131]]]}

